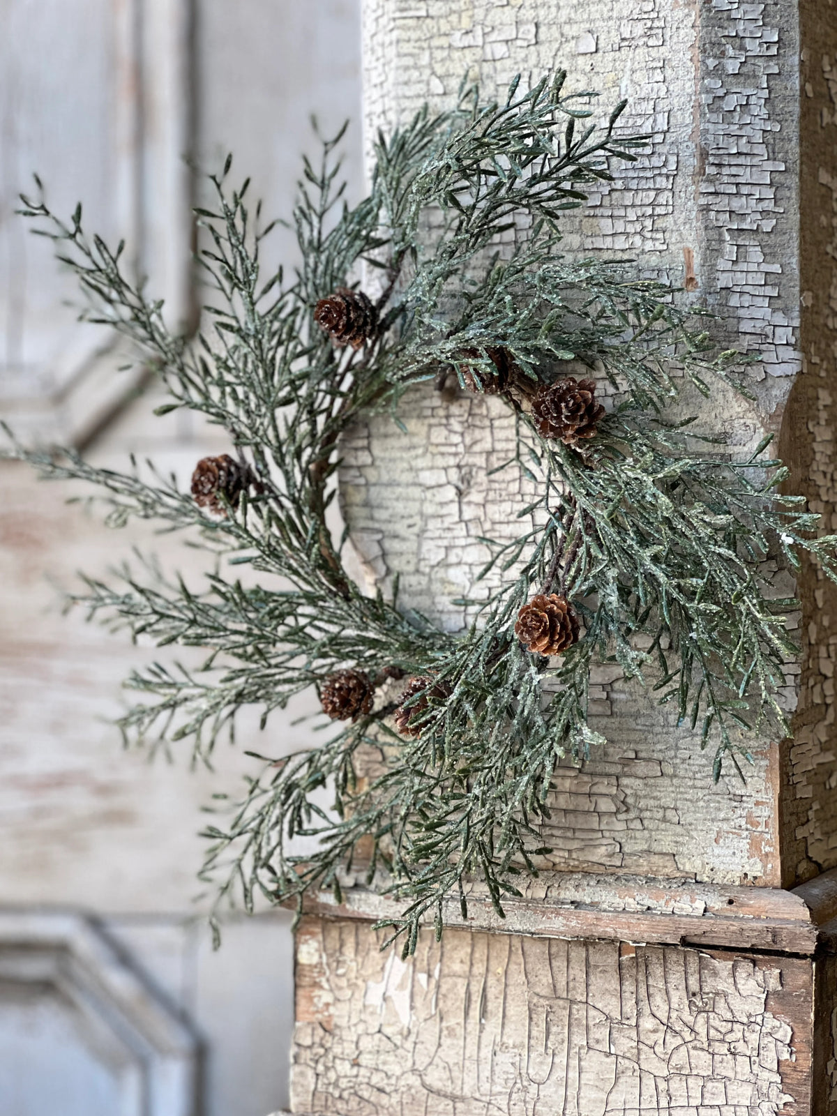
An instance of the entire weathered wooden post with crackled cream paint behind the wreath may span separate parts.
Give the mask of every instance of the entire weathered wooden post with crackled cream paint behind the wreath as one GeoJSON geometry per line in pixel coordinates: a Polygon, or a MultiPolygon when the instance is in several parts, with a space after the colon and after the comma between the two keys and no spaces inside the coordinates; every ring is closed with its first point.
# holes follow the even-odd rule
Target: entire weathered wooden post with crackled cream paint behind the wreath
{"type": "MultiPolygon", "coordinates": [[[[650,153],[566,224],[568,253],[635,257],[758,350],[754,401],[702,420],[744,452],[776,433],[837,529],[837,6],[834,0],[365,0],[369,134],[465,71],[502,95],[558,66],[629,98],[650,153]]],[[[401,441],[346,442],[344,507],[379,580],[455,628],[448,602],[521,482],[483,481],[508,421],[492,398],[416,388],[401,441]],[[478,525],[478,526],[474,526],[478,525]],[[411,542],[412,540],[412,542],[411,542]],[[410,547],[412,546],[412,551],[410,547]]],[[[791,586],[792,588],[792,586],[791,586]]],[[[775,1116],[837,1113],[837,594],[805,565],[782,700],[747,782],[609,665],[608,744],[556,779],[555,852],[499,920],[472,888],[414,959],[378,952],[394,911],[359,884],[311,903],[297,939],[292,1107],[340,1116],[775,1116]]]]}

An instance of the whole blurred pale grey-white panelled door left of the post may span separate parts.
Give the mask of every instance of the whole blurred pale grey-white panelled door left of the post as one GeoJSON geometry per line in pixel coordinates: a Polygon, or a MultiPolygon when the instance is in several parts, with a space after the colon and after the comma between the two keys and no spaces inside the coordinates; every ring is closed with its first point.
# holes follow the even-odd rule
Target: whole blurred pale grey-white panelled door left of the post
{"type": "MultiPolygon", "coordinates": [[[[15,215],[18,193],[37,173],[54,209],[81,200],[88,231],[126,239],[169,320],[194,320],[201,171],[233,152],[233,177],[287,217],[310,115],[325,129],[349,117],[356,196],[359,54],[358,0],[0,0],[3,417],[97,463],[151,455],[184,484],[227,448],[187,415],[150,416],[154,383],[118,372],[113,338],[77,323],[77,290],[15,215]]],[[[286,232],[272,251],[292,264],[286,232]]],[[[289,918],[230,918],[213,953],[192,902],[201,806],[247,761],[230,750],[192,772],[186,754],[122,752],[119,682],[153,648],[62,618],[56,589],[151,532],[115,535],[67,496],[0,464],[0,1112],[268,1116],[287,1099],[289,918]]],[[[190,573],[176,540],[151,541],[190,573]]],[[[248,731],[261,751],[304,745],[299,712],[270,723],[269,744],[244,725],[239,747],[248,731]]]]}

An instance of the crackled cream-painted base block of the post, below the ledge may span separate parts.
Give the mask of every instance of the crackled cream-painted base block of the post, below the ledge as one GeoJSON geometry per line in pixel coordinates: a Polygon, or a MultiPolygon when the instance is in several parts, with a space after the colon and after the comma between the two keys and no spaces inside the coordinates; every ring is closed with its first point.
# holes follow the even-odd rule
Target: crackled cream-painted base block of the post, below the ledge
{"type": "Polygon", "coordinates": [[[291,1108],[340,1116],[810,1110],[805,959],[305,920],[291,1108]]]}

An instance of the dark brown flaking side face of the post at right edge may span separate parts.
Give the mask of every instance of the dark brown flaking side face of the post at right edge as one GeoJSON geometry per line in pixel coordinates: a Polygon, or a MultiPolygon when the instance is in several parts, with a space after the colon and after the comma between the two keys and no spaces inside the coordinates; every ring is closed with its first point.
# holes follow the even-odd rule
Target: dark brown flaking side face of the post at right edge
{"type": "MultiPolygon", "coordinates": [[[[779,450],[788,490],[807,497],[837,530],[837,6],[799,8],[799,334],[802,372],[783,415],[779,450]]],[[[796,92],[796,90],[795,90],[796,92]]],[[[782,772],[785,878],[837,863],[837,587],[811,562],[799,577],[802,642],[799,704],[782,772]]]]}

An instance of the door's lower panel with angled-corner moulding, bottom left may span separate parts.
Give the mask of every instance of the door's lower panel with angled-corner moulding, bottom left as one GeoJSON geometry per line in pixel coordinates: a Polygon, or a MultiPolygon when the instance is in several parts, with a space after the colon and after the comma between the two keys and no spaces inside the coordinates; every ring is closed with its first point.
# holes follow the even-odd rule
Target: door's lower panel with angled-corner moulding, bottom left
{"type": "Polygon", "coordinates": [[[6,1112],[195,1116],[196,1036],[94,922],[0,912],[0,984],[6,1112]]]}

